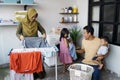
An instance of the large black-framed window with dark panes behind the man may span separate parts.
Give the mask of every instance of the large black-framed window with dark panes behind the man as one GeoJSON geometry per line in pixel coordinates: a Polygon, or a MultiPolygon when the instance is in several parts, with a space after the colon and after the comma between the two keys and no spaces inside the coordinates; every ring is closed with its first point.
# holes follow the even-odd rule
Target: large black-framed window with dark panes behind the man
{"type": "Polygon", "coordinates": [[[108,36],[111,44],[120,46],[120,0],[89,0],[88,24],[95,36],[108,36]]]}

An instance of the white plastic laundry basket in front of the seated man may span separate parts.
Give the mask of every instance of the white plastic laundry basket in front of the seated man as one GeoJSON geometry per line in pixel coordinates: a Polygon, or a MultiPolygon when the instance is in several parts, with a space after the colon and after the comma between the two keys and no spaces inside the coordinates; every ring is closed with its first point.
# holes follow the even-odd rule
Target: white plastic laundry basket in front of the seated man
{"type": "Polygon", "coordinates": [[[93,67],[76,63],[69,67],[70,80],[91,80],[92,73],[94,72],[93,67]]]}

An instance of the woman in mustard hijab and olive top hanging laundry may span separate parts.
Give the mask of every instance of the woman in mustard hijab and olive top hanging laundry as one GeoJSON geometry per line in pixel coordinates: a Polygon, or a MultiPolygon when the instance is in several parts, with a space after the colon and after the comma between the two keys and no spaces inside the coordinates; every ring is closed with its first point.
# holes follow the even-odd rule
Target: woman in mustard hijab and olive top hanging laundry
{"type": "MultiPolygon", "coordinates": [[[[37,16],[38,13],[34,8],[30,8],[27,11],[25,18],[20,22],[16,31],[16,35],[20,40],[24,40],[25,37],[38,37],[38,31],[42,34],[43,38],[46,38],[44,28],[36,20],[37,16]]],[[[43,66],[43,71],[40,73],[34,73],[34,78],[42,79],[45,75],[46,73],[43,66]]]]}

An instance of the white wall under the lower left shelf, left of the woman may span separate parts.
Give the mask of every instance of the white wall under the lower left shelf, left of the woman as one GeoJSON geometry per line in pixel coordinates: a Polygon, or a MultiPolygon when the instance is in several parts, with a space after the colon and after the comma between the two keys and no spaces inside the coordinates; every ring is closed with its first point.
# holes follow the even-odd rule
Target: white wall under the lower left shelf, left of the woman
{"type": "Polygon", "coordinates": [[[20,46],[15,35],[16,28],[16,26],[0,26],[0,64],[9,63],[9,51],[20,46]]]}

